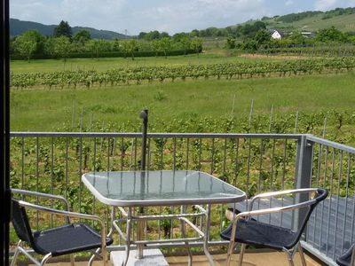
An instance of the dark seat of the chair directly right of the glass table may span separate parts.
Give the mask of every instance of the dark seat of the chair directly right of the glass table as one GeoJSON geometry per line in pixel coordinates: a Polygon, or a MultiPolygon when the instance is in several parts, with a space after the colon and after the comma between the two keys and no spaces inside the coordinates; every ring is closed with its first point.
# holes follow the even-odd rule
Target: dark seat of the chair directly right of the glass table
{"type": "MultiPolygon", "coordinates": [[[[232,227],[233,223],[225,231],[222,231],[221,237],[223,239],[231,239],[232,227]]],[[[278,250],[282,250],[284,247],[290,249],[296,245],[296,232],[256,220],[240,219],[237,224],[235,241],[278,250]]]]}

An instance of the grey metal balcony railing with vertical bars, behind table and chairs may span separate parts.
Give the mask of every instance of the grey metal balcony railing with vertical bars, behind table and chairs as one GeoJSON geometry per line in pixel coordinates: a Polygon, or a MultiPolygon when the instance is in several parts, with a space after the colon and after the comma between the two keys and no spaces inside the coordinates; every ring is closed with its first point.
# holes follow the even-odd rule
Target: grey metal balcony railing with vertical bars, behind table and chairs
{"type": "MultiPolygon", "coordinates": [[[[75,211],[99,213],[109,224],[108,208],[86,190],[81,176],[89,171],[138,170],[141,137],[140,133],[12,132],[11,185],[63,195],[75,211]]],[[[147,169],[205,171],[241,188],[248,197],[289,188],[327,188],[328,199],[313,212],[305,231],[304,248],[333,264],[354,242],[354,148],[301,134],[150,133],[147,137],[147,169]]],[[[174,207],[159,209],[167,211],[174,212],[174,207]]],[[[223,246],[226,242],[218,232],[225,226],[225,206],[213,211],[209,242],[223,246]]],[[[270,216],[269,222],[292,227],[300,219],[302,213],[270,216]]],[[[37,215],[37,227],[41,221],[37,215]]],[[[53,217],[50,223],[55,223],[53,217]]],[[[159,223],[157,228],[158,238],[174,234],[171,224],[159,223]]],[[[118,243],[114,248],[123,248],[120,239],[118,243]]]]}

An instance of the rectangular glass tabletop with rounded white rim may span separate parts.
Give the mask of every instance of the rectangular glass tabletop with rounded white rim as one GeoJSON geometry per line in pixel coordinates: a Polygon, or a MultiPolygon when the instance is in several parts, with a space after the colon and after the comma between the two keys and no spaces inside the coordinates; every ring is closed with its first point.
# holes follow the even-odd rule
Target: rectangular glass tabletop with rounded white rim
{"type": "Polygon", "coordinates": [[[95,172],[83,183],[102,202],[116,206],[224,203],[245,193],[217,177],[198,171],[95,172]]]}

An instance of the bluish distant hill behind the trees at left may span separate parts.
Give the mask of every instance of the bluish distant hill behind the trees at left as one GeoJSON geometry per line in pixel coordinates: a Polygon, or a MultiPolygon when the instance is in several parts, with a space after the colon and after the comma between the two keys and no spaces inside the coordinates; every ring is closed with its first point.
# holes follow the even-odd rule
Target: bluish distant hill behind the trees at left
{"type": "MultiPolygon", "coordinates": [[[[41,23],[32,22],[32,21],[10,19],[11,36],[20,35],[23,32],[28,31],[30,29],[37,29],[43,35],[52,35],[54,27],[57,27],[57,25],[43,25],[41,23]]],[[[92,27],[72,27],[73,35],[81,29],[88,30],[91,34],[91,38],[95,38],[95,39],[111,40],[115,38],[123,39],[127,37],[126,35],[122,35],[114,31],[99,30],[92,27]]]]}

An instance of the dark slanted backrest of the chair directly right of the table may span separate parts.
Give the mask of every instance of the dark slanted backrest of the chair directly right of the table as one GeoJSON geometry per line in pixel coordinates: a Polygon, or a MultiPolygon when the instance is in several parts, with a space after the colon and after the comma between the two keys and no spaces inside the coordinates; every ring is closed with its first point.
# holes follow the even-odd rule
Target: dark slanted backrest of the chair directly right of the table
{"type": "MultiPolygon", "coordinates": [[[[307,207],[307,210],[304,213],[304,221],[299,224],[298,230],[296,231],[296,239],[290,246],[295,246],[299,239],[301,239],[302,233],[304,231],[305,226],[307,225],[310,216],[312,215],[312,211],[315,207],[317,207],[318,203],[327,198],[327,190],[318,188],[317,192],[315,192],[314,198],[303,202],[303,207],[307,207]]],[[[303,208],[301,207],[301,208],[303,208]]]]}

